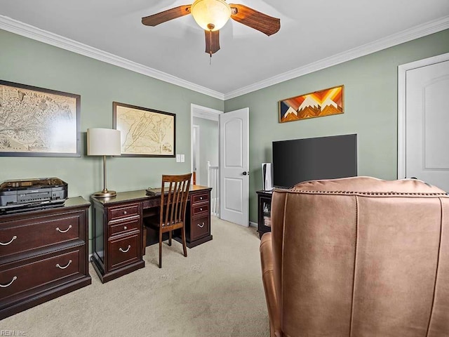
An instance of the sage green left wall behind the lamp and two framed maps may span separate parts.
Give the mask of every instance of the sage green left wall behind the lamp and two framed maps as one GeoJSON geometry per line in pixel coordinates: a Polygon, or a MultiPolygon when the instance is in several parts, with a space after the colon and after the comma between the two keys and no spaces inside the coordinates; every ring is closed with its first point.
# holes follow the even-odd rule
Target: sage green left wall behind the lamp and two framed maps
{"type": "Polygon", "coordinates": [[[116,191],[159,186],[163,173],[190,171],[191,103],[223,110],[222,100],[121,67],[0,30],[0,79],[81,95],[80,157],[0,157],[0,182],[55,176],[69,197],[102,190],[102,158],[86,156],[87,128],[112,128],[112,102],[176,114],[175,158],[107,158],[107,187],[116,191]]]}

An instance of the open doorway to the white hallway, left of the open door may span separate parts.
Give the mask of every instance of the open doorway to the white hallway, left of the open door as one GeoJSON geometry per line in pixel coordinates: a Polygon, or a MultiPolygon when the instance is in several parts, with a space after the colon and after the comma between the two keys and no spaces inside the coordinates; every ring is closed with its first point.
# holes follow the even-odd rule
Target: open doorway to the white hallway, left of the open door
{"type": "Polygon", "coordinates": [[[220,122],[223,112],[191,105],[191,164],[194,183],[212,187],[210,192],[211,213],[220,212],[220,122]]]}

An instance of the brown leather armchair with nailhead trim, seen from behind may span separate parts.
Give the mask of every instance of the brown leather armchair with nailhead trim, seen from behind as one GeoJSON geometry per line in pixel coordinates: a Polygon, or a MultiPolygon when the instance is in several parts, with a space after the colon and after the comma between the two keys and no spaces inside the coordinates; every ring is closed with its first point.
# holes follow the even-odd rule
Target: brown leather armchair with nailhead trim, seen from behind
{"type": "Polygon", "coordinates": [[[271,336],[449,336],[449,197],[420,180],[314,180],[272,197],[271,336]]]}

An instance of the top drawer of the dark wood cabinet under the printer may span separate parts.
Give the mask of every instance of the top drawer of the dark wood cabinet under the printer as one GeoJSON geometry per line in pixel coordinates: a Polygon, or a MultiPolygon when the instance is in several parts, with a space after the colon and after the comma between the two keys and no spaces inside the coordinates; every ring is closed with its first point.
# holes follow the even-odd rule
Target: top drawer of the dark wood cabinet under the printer
{"type": "Polygon", "coordinates": [[[72,216],[35,218],[26,223],[2,223],[0,256],[81,238],[83,236],[80,230],[83,230],[83,226],[80,226],[80,216],[80,213],[74,213],[72,216]]]}

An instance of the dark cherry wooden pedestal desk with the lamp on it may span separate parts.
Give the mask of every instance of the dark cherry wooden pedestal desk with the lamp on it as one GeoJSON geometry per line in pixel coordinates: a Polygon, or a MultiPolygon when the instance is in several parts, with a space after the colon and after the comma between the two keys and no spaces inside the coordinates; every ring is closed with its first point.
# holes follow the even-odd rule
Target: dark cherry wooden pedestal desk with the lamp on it
{"type": "MultiPolygon", "coordinates": [[[[211,187],[191,185],[186,211],[189,248],[208,242],[211,187]]],[[[115,197],[91,197],[93,221],[92,264],[103,283],[145,267],[142,260],[142,221],[159,212],[161,196],[145,190],[119,192],[115,197]]]]}

